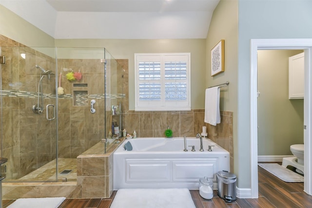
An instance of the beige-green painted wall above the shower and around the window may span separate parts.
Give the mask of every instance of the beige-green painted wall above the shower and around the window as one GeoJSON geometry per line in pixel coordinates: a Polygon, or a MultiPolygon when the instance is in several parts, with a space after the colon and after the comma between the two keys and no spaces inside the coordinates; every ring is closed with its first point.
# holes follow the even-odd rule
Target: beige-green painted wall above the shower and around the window
{"type": "Polygon", "coordinates": [[[54,39],[2,5],[0,34],[29,47],[105,47],[114,58],[129,59],[129,110],[135,106],[135,53],[190,52],[191,105],[192,109],[204,108],[206,39],[54,39]]]}

